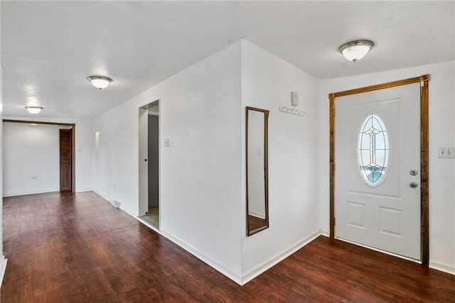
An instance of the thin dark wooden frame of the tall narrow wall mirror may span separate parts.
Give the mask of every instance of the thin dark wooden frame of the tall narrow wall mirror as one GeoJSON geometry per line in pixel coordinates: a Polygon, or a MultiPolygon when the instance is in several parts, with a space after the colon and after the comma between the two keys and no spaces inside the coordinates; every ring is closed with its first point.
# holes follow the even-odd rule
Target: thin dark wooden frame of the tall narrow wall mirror
{"type": "Polygon", "coordinates": [[[245,107],[245,172],[246,172],[246,205],[247,205],[247,236],[254,235],[259,231],[269,228],[269,148],[268,148],[268,128],[269,111],[267,109],[257,109],[255,107],[245,107]],[[264,113],[264,206],[265,206],[265,225],[250,231],[250,217],[248,207],[248,112],[259,111],[264,113]]]}

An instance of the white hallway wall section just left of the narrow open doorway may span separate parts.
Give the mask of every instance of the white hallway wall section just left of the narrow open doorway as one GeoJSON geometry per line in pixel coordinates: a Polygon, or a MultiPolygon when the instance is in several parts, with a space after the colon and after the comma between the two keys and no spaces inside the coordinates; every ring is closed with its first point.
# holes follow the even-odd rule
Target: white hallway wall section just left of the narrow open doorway
{"type": "Polygon", "coordinates": [[[93,189],[109,201],[119,201],[134,216],[139,214],[138,118],[134,101],[127,101],[97,117],[94,126],[99,143],[93,189]]]}

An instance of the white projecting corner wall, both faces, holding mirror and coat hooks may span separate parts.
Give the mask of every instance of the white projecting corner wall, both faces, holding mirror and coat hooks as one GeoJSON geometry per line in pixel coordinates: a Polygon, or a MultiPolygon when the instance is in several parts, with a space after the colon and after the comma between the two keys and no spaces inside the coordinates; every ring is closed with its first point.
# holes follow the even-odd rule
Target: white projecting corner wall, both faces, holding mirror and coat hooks
{"type": "Polygon", "coordinates": [[[246,41],[95,120],[94,189],[139,214],[139,107],[160,100],[160,230],[239,283],[319,235],[318,80],[246,41]],[[304,118],[280,112],[300,93],[304,118]],[[270,228],[246,236],[245,106],[269,109],[270,228]],[[164,147],[168,138],[170,146],[164,147]]]}

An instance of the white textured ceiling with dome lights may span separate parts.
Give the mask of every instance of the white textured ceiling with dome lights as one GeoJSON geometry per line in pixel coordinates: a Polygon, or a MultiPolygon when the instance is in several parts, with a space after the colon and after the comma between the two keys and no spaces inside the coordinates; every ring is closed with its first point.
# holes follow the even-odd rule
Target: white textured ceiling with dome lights
{"type": "Polygon", "coordinates": [[[319,79],[455,60],[454,1],[1,1],[4,116],[92,118],[239,39],[319,79]],[[350,40],[375,47],[353,64],[350,40]],[[112,77],[99,91],[90,75],[112,77]]]}

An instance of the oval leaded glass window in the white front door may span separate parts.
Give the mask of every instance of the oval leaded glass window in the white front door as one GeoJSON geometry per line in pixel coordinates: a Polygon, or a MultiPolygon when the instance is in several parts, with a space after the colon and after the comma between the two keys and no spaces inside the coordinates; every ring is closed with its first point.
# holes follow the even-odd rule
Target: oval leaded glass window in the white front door
{"type": "Polygon", "coordinates": [[[378,186],[385,180],[389,154],[385,123],[378,114],[368,114],[360,124],[357,141],[358,168],[368,185],[378,186]]]}

